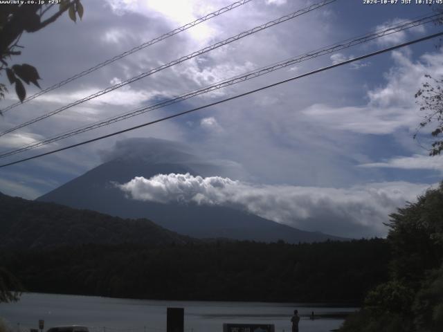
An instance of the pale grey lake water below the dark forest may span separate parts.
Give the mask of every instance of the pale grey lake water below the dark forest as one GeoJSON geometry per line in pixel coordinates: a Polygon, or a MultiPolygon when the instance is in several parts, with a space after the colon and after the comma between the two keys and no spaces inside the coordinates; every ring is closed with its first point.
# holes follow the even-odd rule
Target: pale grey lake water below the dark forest
{"type": "Polygon", "coordinates": [[[275,324],[275,332],[291,332],[294,308],[301,316],[300,332],[326,332],[337,329],[343,319],[318,315],[349,313],[356,308],[321,304],[261,302],[156,301],[109,297],[25,293],[12,304],[0,304],[0,317],[13,331],[37,329],[38,320],[51,326],[78,324],[91,332],[165,332],[166,308],[185,309],[186,332],[222,332],[223,323],[275,324]]]}

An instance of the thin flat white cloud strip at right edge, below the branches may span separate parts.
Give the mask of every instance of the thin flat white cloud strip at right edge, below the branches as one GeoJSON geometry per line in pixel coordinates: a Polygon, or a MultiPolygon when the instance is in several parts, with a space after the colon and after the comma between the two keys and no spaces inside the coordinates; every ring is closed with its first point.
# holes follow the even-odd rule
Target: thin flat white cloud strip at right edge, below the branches
{"type": "Polygon", "coordinates": [[[443,156],[423,156],[414,154],[410,157],[397,156],[381,163],[365,163],[360,167],[381,167],[397,169],[431,169],[443,174],[443,156]]]}

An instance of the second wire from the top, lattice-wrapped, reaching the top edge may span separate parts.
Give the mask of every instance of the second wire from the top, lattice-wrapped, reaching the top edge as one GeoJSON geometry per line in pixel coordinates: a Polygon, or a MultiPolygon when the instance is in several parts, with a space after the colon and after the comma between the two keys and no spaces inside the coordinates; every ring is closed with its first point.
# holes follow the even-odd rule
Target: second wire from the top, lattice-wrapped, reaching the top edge
{"type": "Polygon", "coordinates": [[[26,127],[29,124],[33,124],[35,122],[38,122],[38,121],[44,120],[46,118],[49,118],[50,116],[53,116],[53,115],[55,115],[57,113],[60,113],[60,112],[62,112],[64,110],[69,109],[71,107],[74,107],[74,106],[76,106],[78,104],[82,104],[83,102],[87,102],[88,100],[91,100],[93,98],[97,98],[100,95],[104,95],[105,93],[109,93],[109,92],[114,91],[114,90],[116,90],[118,88],[121,88],[122,86],[125,86],[127,84],[136,82],[138,80],[141,80],[144,77],[147,77],[149,75],[152,75],[154,73],[162,71],[165,68],[169,68],[169,67],[174,66],[176,64],[180,64],[181,62],[185,62],[188,59],[192,59],[193,57],[197,57],[197,56],[202,55],[204,53],[208,53],[210,50],[214,50],[215,48],[219,48],[221,46],[230,44],[230,43],[235,42],[238,39],[241,39],[241,38],[246,37],[248,35],[253,35],[254,33],[257,33],[257,32],[259,32],[261,30],[264,30],[266,28],[270,28],[271,26],[275,26],[275,25],[280,24],[280,23],[282,23],[284,21],[288,21],[289,19],[293,19],[293,18],[298,17],[300,15],[306,14],[307,12],[311,12],[312,10],[316,10],[316,9],[318,9],[320,7],[323,7],[323,6],[327,5],[327,4],[335,2],[335,1],[337,1],[337,0],[325,0],[325,1],[322,1],[320,3],[314,3],[314,5],[308,6],[306,8],[301,9],[301,10],[297,10],[296,12],[292,12],[289,15],[284,15],[284,16],[278,18],[278,19],[275,19],[273,21],[269,21],[266,24],[262,24],[261,26],[256,26],[255,28],[252,28],[250,30],[244,31],[243,33],[239,33],[238,35],[235,35],[234,37],[230,37],[228,39],[225,39],[222,42],[218,42],[218,43],[215,43],[215,44],[213,44],[211,46],[207,46],[205,48],[202,48],[201,50],[197,50],[197,51],[195,51],[193,53],[190,53],[189,55],[185,55],[184,57],[176,59],[176,60],[174,60],[172,62],[168,62],[168,64],[163,64],[163,65],[161,65],[159,67],[151,69],[150,71],[147,71],[145,73],[141,73],[141,74],[139,74],[137,76],[134,76],[134,77],[132,77],[132,78],[130,78],[128,80],[125,80],[125,81],[120,82],[118,84],[115,84],[113,86],[109,86],[107,89],[104,89],[104,90],[98,91],[96,93],[93,93],[92,95],[89,95],[88,97],[82,98],[82,99],[77,100],[75,102],[71,102],[71,104],[67,104],[64,107],[56,109],[55,111],[51,111],[51,112],[46,113],[46,114],[44,114],[42,116],[34,118],[33,120],[29,120],[28,122],[24,122],[22,124],[19,124],[16,127],[12,127],[10,129],[7,129],[6,131],[1,132],[0,136],[4,136],[7,133],[10,133],[10,132],[15,131],[17,129],[26,127]]]}

